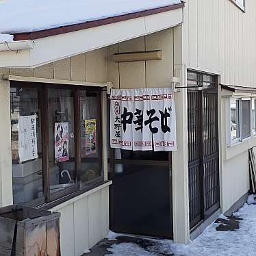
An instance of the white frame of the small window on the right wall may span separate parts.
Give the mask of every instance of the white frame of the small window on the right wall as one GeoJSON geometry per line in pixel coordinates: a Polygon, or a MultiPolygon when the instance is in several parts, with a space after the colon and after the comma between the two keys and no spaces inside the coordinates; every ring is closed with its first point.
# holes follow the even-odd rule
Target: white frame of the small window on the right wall
{"type": "MultiPolygon", "coordinates": [[[[255,108],[256,108],[256,98],[255,97],[228,97],[227,98],[227,146],[233,146],[233,144],[237,144],[238,142],[243,142],[245,140],[248,140],[249,138],[252,138],[254,136],[256,136],[256,129],[253,132],[253,117],[252,117],[252,102],[255,101],[255,108]],[[233,140],[231,140],[231,99],[238,99],[239,102],[239,116],[238,116],[238,123],[239,123],[239,137],[235,138],[233,140]],[[243,124],[243,118],[242,118],[242,101],[250,101],[251,102],[251,108],[250,108],[250,120],[251,120],[251,131],[250,131],[250,135],[246,138],[243,138],[242,132],[242,124],[243,124]]],[[[255,128],[256,128],[256,111],[254,113],[254,124],[255,124],[255,128]]]]}

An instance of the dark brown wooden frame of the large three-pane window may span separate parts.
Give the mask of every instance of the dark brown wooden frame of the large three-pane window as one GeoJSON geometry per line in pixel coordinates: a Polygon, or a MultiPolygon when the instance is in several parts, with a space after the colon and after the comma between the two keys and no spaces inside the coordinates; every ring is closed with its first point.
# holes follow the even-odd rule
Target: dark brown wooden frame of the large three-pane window
{"type": "MultiPolygon", "coordinates": [[[[103,120],[102,120],[102,92],[103,88],[97,86],[76,86],[76,85],[66,85],[66,84],[42,84],[37,82],[26,82],[26,81],[11,81],[10,88],[37,88],[38,89],[38,107],[40,108],[42,120],[44,123],[44,128],[41,126],[41,136],[42,136],[42,182],[43,182],[43,192],[44,194],[33,201],[24,203],[27,206],[40,206],[40,205],[52,205],[53,201],[56,203],[62,202],[66,197],[71,197],[71,195],[76,196],[77,194],[82,194],[95,188],[97,185],[104,183],[104,170],[103,170],[103,120]],[[54,192],[50,194],[50,169],[49,169],[49,103],[48,103],[48,89],[63,89],[72,90],[73,96],[73,115],[74,115],[74,132],[75,132],[75,173],[76,180],[75,185],[70,188],[65,188],[59,192],[54,192]],[[99,123],[97,123],[97,129],[99,129],[99,166],[101,170],[101,175],[90,180],[86,185],[81,184],[81,131],[80,131],[80,90],[90,90],[90,92],[97,92],[99,99],[98,116],[99,123]],[[46,128],[45,128],[46,127],[46,128]]],[[[10,108],[11,111],[11,108],[10,108]]]]}

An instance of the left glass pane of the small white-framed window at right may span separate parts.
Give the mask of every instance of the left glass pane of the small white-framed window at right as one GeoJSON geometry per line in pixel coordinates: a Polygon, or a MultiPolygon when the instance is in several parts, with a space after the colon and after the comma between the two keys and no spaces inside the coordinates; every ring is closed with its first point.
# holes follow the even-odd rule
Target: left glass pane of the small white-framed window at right
{"type": "Polygon", "coordinates": [[[239,112],[240,104],[239,99],[230,99],[230,134],[231,140],[240,138],[239,127],[239,112]]]}

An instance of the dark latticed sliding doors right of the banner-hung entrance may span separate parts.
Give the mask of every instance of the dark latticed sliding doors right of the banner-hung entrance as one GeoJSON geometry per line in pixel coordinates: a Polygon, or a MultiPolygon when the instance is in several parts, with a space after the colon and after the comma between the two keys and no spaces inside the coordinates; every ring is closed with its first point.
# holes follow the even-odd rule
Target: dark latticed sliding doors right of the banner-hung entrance
{"type": "Polygon", "coordinates": [[[220,207],[217,77],[188,72],[190,229],[220,207]]]}

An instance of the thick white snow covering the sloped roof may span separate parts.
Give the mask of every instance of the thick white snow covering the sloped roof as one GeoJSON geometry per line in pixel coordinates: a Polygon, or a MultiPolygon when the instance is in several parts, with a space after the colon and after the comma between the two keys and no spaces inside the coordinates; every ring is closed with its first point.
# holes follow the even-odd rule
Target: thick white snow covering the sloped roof
{"type": "Polygon", "coordinates": [[[3,1],[0,2],[0,34],[40,31],[178,3],[181,0],[3,1]]]}

